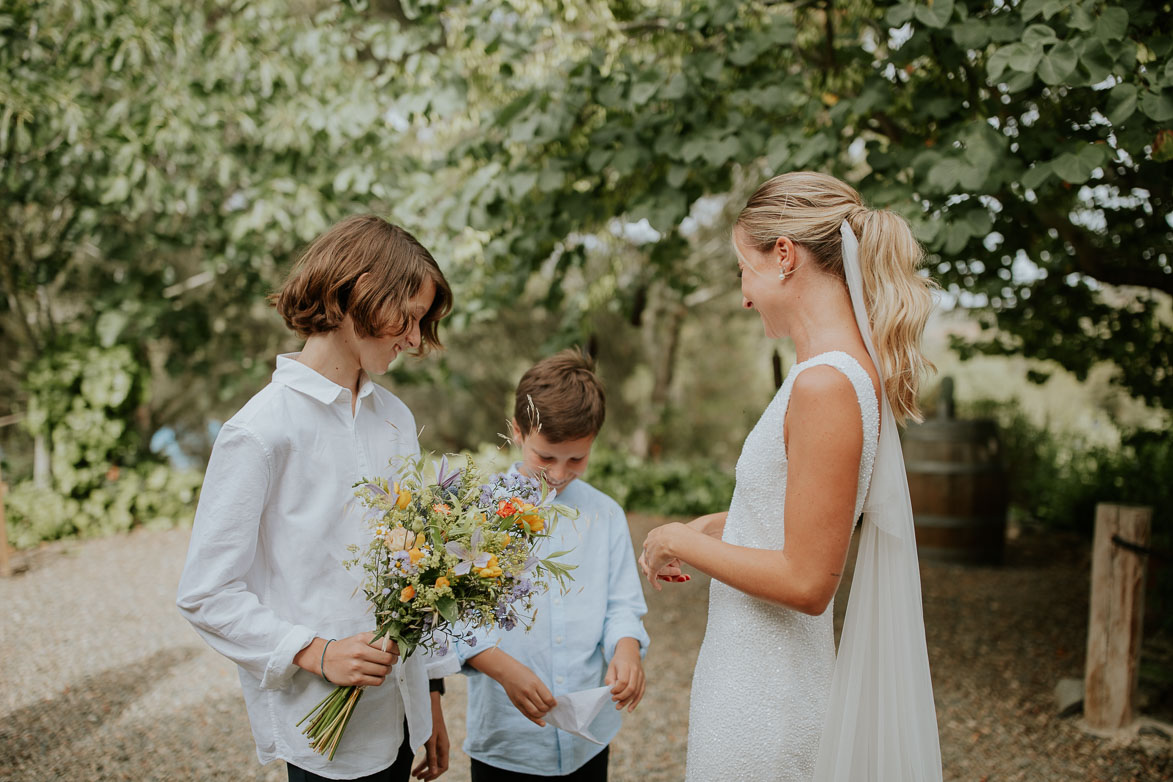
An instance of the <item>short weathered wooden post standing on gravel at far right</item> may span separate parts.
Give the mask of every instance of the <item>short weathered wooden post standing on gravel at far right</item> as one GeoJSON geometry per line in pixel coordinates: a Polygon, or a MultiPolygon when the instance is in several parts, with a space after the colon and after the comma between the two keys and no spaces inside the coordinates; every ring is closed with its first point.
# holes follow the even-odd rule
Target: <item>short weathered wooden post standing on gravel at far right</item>
{"type": "Polygon", "coordinates": [[[1151,508],[1096,506],[1084,680],[1084,721],[1093,730],[1119,730],[1135,716],[1152,521],[1151,508]]]}

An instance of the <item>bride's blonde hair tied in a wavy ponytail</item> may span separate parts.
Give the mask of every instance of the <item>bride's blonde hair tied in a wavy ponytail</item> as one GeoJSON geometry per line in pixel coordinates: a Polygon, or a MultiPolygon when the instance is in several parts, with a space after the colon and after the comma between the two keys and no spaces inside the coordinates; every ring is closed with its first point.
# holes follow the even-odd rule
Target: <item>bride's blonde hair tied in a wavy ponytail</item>
{"type": "Polygon", "coordinates": [[[835,177],[794,171],[758,188],[735,226],[762,251],[787,236],[809,251],[820,268],[843,279],[843,220],[860,240],[865,307],[888,403],[897,423],[921,421],[921,375],[934,368],[921,352],[921,335],[936,284],[917,273],[924,251],[904,218],[867,209],[860,193],[835,177]]]}

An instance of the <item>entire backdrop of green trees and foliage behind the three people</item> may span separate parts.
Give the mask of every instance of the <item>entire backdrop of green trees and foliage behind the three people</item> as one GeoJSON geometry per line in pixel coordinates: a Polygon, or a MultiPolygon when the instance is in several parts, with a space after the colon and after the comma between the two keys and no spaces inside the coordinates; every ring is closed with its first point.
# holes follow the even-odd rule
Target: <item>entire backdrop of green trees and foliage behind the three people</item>
{"type": "MultiPolygon", "coordinates": [[[[594,353],[594,480],[726,502],[792,360],[728,225],[811,168],[904,213],[928,347],[1003,424],[1018,524],[1154,506],[1173,551],[1168,2],[9,0],[0,8],[8,537],[190,518],[216,424],[296,349],[264,304],[333,220],[419,236],[448,349],[387,382],[494,450],[520,373],[594,353]],[[441,388],[442,393],[436,393],[441,388]]],[[[935,381],[927,404],[935,403],[935,381]]]]}

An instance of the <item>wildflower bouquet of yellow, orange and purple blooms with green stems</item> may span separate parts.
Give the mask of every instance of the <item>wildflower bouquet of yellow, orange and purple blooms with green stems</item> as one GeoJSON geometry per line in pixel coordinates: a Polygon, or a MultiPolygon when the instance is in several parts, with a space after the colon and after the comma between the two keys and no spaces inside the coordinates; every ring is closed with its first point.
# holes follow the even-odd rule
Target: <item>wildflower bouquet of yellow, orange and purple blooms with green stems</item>
{"type": "MultiPolygon", "coordinates": [[[[576,511],[552,503],[544,482],[517,474],[482,481],[468,460],[434,483],[423,480],[426,458],[395,464],[400,481],[364,480],[355,496],[368,509],[371,540],[351,546],[347,567],[365,571],[362,591],[375,617],[374,640],[394,641],[406,658],[416,648],[447,652],[448,639],[479,627],[511,630],[526,621],[533,594],[556,578],[565,589],[572,565],[565,551],[540,557],[560,516],[576,511]]],[[[528,623],[527,623],[528,624],[528,623]]],[[[333,760],[362,688],[339,686],[298,722],[314,752],[333,760]]]]}

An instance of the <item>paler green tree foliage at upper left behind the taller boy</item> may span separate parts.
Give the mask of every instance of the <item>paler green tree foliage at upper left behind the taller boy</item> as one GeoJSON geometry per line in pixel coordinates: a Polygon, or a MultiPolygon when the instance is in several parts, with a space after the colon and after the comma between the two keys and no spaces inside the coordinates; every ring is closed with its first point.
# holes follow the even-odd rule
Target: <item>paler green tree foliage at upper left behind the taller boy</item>
{"type": "Polygon", "coordinates": [[[0,385],[35,434],[77,444],[53,373],[93,355],[134,365],[94,430],[114,463],[255,389],[283,339],[264,294],[418,168],[387,110],[430,35],[333,2],[5,4],[0,385]]]}

